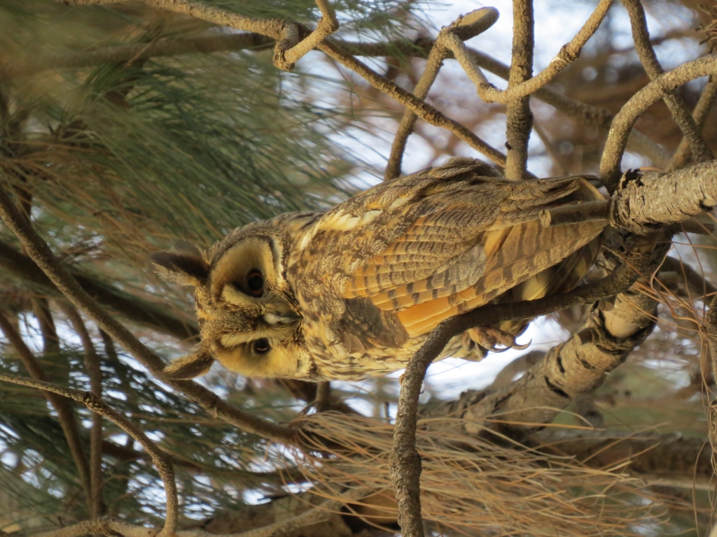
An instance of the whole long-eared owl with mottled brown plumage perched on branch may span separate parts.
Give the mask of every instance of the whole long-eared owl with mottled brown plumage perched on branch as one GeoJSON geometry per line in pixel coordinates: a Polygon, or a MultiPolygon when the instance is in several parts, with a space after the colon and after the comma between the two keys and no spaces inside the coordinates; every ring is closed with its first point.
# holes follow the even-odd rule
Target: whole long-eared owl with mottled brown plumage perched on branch
{"type": "MultiPolygon", "coordinates": [[[[495,301],[576,286],[604,221],[543,227],[541,211],[599,200],[581,177],[508,181],[453,158],[369,188],[329,211],[237,228],[207,251],[153,256],[194,287],[201,342],[166,374],[205,374],[217,359],[247,377],[362,379],[406,367],[445,319],[495,301]]],[[[443,354],[480,359],[526,321],[472,329],[443,354]]]]}

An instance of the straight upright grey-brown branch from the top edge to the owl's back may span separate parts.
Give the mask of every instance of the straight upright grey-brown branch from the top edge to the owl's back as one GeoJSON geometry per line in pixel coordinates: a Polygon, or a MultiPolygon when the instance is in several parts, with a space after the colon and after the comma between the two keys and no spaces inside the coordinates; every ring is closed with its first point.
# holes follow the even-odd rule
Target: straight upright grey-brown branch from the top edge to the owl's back
{"type": "MultiPolygon", "coordinates": [[[[513,0],[513,52],[508,89],[533,77],[535,16],[533,0],[513,0]]],[[[454,52],[455,54],[455,52],[454,52]]],[[[505,178],[521,180],[528,168],[528,140],[533,131],[531,97],[509,101],[505,107],[505,178]]]]}

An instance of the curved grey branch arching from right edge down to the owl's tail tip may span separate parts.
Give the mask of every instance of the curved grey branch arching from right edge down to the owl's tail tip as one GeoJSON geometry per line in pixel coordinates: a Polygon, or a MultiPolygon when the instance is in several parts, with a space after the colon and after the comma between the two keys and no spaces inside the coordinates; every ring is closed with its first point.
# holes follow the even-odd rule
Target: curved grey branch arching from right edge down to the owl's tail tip
{"type": "Polygon", "coordinates": [[[600,160],[600,177],[609,190],[614,190],[617,186],[620,177],[620,162],[622,155],[625,154],[627,137],[637,118],[673,89],[695,78],[707,77],[712,74],[717,74],[717,56],[710,55],[694,59],[675,67],[672,71],[660,74],[622,106],[612,120],[602,160],[600,160]]]}

